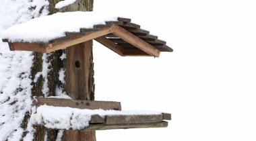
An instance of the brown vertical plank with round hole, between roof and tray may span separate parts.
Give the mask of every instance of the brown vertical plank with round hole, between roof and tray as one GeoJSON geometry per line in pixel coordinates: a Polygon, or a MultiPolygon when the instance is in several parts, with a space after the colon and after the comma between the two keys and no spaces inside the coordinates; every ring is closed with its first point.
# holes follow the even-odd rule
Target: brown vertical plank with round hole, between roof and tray
{"type": "Polygon", "coordinates": [[[90,100],[88,77],[92,40],[67,48],[66,89],[72,99],[90,100]]]}

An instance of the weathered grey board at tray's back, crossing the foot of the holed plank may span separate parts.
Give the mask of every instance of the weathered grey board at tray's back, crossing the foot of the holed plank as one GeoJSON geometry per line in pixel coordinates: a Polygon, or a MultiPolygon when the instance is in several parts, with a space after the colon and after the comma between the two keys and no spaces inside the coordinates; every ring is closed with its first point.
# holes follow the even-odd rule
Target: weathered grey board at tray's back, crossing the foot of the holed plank
{"type": "Polygon", "coordinates": [[[89,100],[74,100],[74,99],[55,99],[37,97],[33,105],[52,105],[56,107],[73,107],[78,109],[114,109],[121,110],[120,102],[113,101],[89,101],[89,100]]]}

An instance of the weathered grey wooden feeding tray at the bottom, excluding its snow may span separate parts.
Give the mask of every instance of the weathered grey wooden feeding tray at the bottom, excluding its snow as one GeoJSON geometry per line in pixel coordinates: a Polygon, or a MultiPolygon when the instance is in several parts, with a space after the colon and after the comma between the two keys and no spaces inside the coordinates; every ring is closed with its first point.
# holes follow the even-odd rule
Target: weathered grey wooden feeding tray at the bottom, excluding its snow
{"type": "MultiPolygon", "coordinates": [[[[82,131],[129,128],[166,128],[168,122],[164,122],[164,120],[171,120],[170,113],[162,113],[159,115],[106,115],[104,118],[100,117],[100,115],[92,115],[90,126],[82,129],[82,131]]],[[[44,125],[36,124],[34,126],[44,125]]]]}

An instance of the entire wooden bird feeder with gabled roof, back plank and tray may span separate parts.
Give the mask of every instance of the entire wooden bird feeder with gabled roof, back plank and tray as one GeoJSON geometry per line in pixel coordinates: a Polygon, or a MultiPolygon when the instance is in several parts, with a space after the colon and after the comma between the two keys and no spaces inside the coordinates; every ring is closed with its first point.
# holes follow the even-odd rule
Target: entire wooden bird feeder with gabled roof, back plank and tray
{"type": "MultiPolygon", "coordinates": [[[[63,13],[65,14],[65,13],[63,13]]],[[[52,15],[49,15],[52,16],[52,15]]],[[[86,18],[86,17],[79,17],[86,18]]],[[[46,21],[51,22],[51,21],[46,21]]],[[[26,23],[23,23],[26,24],[26,23]]],[[[36,24],[36,22],[34,23],[36,24]]],[[[17,32],[26,36],[32,32],[20,32],[22,25],[14,27],[17,32]]],[[[41,25],[42,30],[47,30],[47,26],[41,25]]],[[[57,38],[40,40],[27,40],[23,36],[12,38],[11,30],[3,34],[3,42],[8,42],[10,50],[26,50],[33,52],[49,53],[56,50],[67,49],[67,68],[65,70],[66,92],[72,99],[53,99],[37,97],[34,105],[52,105],[55,107],[73,107],[77,109],[112,109],[121,110],[121,103],[110,101],[90,101],[88,100],[88,59],[92,51],[89,46],[92,40],[106,46],[120,56],[155,56],[159,57],[160,52],[172,52],[172,48],[166,46],[166,42],[158,40],[147,30],[142,30],[139,25],[131,23],[131,19],[118,17],[116,20],[104,21],[104,24],[94,24],[92,28],[77,27],[79,31],[67,32],[63,30],[63,35],[57,38]]],[[[35,31],[36,32],[36,31],[35,31]]],[[[40,34],[40,33],[36,33],[40,34]]],[[[36,36],[36,34],[34,36],[36,36]]],[[[138,115],[92,115],[90,125],[80,130],[110,130],[127,128],[162,128],[168,126],[170,113],[158,114],[138,114],[138,115]]],[[[35,126],[45,126],[44,123],[35,126]]],[[[74,130],[74,129],[69,129],[74,130]]]]}

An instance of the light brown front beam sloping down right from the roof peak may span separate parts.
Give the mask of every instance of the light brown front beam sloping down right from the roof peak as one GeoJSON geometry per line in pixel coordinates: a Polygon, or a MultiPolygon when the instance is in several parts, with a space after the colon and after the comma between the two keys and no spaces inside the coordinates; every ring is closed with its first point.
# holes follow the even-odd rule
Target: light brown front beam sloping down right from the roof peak
{"type": "Polygon", "coordinates": [[[148,44],[147,42],[141,40],[141,38],[138,38],[137,36],[131,34],[127,30],[121,28],[120,26],[117,26],[115,32],[113,32],[115,36],[118,36],[119,38],[125,40],[126,42],[129,42],[133,46],[136,46],[140,50],[143,50],[143,52],[146,52],[150,55],[158,57],[160,55],[160,51],[156,48],[154,48],[152,45],[148,44]]]}

